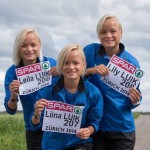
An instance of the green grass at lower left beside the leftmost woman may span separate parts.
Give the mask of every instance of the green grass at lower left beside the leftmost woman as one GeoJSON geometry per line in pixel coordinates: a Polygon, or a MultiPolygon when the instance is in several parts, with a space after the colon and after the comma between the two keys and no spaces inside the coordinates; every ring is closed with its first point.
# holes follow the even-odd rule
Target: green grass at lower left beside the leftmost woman
{"type": "Polygon", "coordinates": [[[22,113],[0,114],[0,150],[26,150],[22,113]]]}

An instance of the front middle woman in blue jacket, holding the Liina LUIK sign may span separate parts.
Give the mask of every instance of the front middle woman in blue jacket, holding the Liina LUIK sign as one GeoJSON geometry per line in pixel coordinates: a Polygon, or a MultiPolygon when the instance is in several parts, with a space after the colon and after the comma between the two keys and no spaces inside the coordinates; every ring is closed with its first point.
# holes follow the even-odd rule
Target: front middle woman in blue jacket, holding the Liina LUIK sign
{"type": "Polygon", "coordinates": [[[41,128],[43,119],[40,117],[41,113],[47,101],[53,100],[84,106],[81,129],[76,135],[45,131],[42,142],[43,150],[91,150],[90,135],[98,130],[102,118],[103,99],[94,85],[83,80],[85,68],[84,52],[79,45],[71,44],[62,49],[57,64],[60,78],[44,96],[39,94],[41,99],[36,102],[31,124],[34,129],[41,128]]]}

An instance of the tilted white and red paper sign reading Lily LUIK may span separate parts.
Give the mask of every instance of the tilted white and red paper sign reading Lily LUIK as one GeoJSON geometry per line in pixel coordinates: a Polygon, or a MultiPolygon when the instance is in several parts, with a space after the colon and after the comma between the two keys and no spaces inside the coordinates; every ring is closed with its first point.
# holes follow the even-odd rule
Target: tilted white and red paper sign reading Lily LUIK
{"type": "Polygon", "coordinates": [[[116,55],[113,55],[107,67],[110,74],[101,76],[101,80],[127,97],[129,97],[129,89],[137,87],[144,74],[142,70],[116,55]]]}

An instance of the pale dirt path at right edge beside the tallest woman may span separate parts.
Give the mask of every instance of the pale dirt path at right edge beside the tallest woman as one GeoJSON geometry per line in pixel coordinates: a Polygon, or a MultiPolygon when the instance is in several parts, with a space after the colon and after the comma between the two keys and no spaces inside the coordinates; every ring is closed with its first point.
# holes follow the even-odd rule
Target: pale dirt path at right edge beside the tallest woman
{"type": "Polygon", "coordinates": [[[134,150],[150,150],[150,115],[135,119],[136,144],[134,150]]]}

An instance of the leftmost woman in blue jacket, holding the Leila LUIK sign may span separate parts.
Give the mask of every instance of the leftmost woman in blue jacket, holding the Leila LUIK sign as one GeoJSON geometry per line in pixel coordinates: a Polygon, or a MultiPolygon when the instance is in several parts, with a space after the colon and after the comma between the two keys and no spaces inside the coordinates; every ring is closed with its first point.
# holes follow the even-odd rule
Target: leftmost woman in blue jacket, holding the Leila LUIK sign
{"type": "Polygon", "coordinates": [[[50,73],[56,75],[56,60],[42,56],[42,43],[38,32],[34,28],[25,28],[17,35],[13,48],[14,64],[7,70],[5,76],[5,99],[4,105],[7,113],[14,115],[17,111],[17,102],[20,99],[26,128],[27,149],[40,150],[43,132],[41,129],[33,131],[30,126],[30,116],[33,112],[35,97],[39,91],[28,95],[19,95],[20,82],[17,80],[15,69],[42,61],[49,61],[51,65],[50,73]]]}

